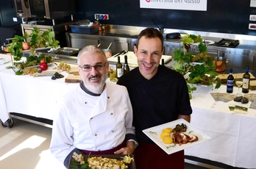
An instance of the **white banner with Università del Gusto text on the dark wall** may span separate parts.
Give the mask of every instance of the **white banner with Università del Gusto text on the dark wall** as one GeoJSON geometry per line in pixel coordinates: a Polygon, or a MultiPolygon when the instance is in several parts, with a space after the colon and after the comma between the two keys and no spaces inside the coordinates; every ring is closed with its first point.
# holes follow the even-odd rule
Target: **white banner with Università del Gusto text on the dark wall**
{"type": "Polygon", "coordinates": [[[207,11],[207,0],[140,0],[141,8],[207,11]]]}

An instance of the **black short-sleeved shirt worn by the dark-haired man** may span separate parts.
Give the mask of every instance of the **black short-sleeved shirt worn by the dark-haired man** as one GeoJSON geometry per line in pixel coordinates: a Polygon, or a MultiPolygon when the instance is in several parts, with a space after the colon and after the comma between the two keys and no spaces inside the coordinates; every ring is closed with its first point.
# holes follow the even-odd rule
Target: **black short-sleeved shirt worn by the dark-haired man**
{"type": "Polygon", "coordinates": [[[191,103],[184,77],[159,65],[152,79],[144,78],[135,68],[121,76],[117,84],[127,87],[132,103],[133,125],[139,141],[153,143],[143,129],[177,120],[178,115],[191,115],[191,103]]]}

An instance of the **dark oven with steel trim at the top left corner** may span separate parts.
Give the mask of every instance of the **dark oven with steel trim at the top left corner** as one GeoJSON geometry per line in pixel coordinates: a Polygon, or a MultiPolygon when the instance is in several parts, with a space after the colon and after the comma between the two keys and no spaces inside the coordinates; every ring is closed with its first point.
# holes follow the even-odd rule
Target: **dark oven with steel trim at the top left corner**
{"type": "Polygon", "coordinates": [[[75,13],[74,0],[15,0],[21,18],[61,18],[75,13]]]}

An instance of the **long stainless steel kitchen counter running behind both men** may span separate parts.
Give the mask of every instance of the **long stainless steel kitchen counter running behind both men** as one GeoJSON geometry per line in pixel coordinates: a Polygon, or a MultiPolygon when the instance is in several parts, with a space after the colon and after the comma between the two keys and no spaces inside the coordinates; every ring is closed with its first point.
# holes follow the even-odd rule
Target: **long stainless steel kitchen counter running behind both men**
{"type": "MultiPolygon", "coordinates": [[[[108,46],[110,41],[115,41],[111,50],[113,54],[122,50],[133,51],[133,46],[137,43],[137,36],[145,27],[139,26],[118,26],[110,25],[109,29],[104,32],[97,32],[93,35],[66,33],[68,47],[82,48],[90,44],[105,43],[102,48],[108,46]]],[[[180,39],[168,39],[166,35],[171,32],[179,32],[181,35],[202,35],[205,40],[213,40],[218,43],[221,39],[239,40],[239,45],[235,48],[216,46],[215,44],[207,46],[208,54],[213,57],[224,57],[227,62],[226,68],[234,68],[243,70],[249,66],[249,70],[256,71],[256,36],[250,35],[232,35],[213,32],[198,32],[181,29],[164,29],[163,36],[164,54],[174,56],[174,50],[180,48],[180,39]]],[[[191,51],[196,53],[196,46],[191,46],[191,51]]]]}

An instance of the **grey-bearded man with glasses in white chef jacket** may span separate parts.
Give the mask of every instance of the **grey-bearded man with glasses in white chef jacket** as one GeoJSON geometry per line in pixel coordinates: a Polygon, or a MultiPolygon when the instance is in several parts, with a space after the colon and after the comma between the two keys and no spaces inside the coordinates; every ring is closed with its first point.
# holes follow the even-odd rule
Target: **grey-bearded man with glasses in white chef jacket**
{"type": "Polygon", "coordinates": [[[82,81],[57,101],[50,151],[68,168],[77,154],[132,154],[135,129],[127,88],[106,82],[109,62],[102,49],[86,46],[77,56],[82,81]]]}

